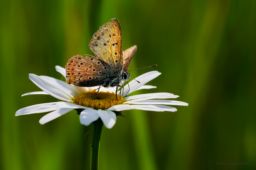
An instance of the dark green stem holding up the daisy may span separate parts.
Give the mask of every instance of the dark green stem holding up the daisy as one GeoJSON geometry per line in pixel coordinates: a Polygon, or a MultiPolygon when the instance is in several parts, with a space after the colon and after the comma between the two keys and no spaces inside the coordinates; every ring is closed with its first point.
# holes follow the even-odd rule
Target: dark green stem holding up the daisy
{"type": "Polygon", "coordinates": [[[92,122],[92,143],[91,143],[91,170],[98,170],[100,136],[102,132],[103,122],[99,118],[92,122]]]}

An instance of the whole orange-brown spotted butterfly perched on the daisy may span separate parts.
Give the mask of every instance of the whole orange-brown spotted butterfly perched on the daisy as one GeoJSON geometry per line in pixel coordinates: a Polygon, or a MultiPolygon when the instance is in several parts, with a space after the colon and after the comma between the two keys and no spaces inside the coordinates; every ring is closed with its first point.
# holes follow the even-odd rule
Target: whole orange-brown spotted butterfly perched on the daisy
{"type": "Polygon", "coordinates": [[[121,27],[114,18],[102,25],[93,35],[89,47],[96,57],[84,54],[85,58],[81,55],[70,58],[66,65],[67,83],[80,87],[99,86],[98,92],[101,86],[106,88],[116,86],[117,99],[118,87],[131,77],[127,69],[137,46],[122,50],[121,27]]]}

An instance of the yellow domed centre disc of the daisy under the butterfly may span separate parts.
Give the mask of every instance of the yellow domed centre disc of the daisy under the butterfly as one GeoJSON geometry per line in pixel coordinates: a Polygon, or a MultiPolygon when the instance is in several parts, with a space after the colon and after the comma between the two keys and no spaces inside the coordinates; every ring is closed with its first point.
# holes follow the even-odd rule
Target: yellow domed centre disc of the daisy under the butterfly
{"type": "Polygon", "coordinates": [[[80,93],[75,99],[74,103],[78,105],[91,107],[94,109],[108,109],[114,105],[119,105],[123,102],[123,97],[120,99],[119,95],[117,95],[117,99],[115,97],[115,93],[112,92],[99,92],[97,97],[93,99],[97,94],[96,90],[92,92],[83,92],[80,93]]]}

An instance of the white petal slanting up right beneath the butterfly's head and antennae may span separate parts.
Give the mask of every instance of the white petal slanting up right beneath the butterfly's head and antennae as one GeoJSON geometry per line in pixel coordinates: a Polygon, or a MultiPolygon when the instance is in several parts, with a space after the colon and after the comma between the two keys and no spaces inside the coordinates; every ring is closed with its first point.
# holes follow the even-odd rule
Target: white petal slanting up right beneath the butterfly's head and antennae
{"type": "MultiPolygon", "coordinates": [[[[156,78],[157,76],[159,76],[161,73],[159,73],[158,71],[150,71],[148,73],[145,73],[143,75],[138,76],[137,78],[135,78],[137,81],[141,82],[138,83],[135,80],[131,80],[131,82],[129,82],[129,86],[130,86],[130,90],[129,90],[129,86],[128,84],[124,86],[124,95],[129,95],[132,92],[134,92],[135,90],[137,90],[138,88],[140,88],[141,86],[143,86],[144,84],[146,84],[147,82],[149,82],[150,80],[153,80],[154,78],[156,78]],[[128,92],[128,93],[127,93],[128,92]]],[[[120,93],[120,92],[119,92],[120,93]]]]}

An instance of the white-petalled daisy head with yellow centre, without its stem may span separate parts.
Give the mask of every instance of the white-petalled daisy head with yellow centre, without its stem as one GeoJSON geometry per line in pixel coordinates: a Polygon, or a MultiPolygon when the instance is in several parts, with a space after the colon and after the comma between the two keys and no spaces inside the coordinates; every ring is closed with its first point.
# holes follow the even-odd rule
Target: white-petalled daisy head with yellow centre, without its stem
{"type": "MultiPolygon", "coordinates": [[[[66,78],[65,69],[56,66],[56,71],[61,73],[66,78]]],[[[98,87],[78,87],[74,85],[69,85],[64,81],[52,78],[49,76],[37,76],[35,74],[29,74],[29,79],[36,84],[41,90],[41,92],[29,92],[25,95],[32,94],[48,94],[59,100],[59,102],[42,103],[37,105],[32,105],[19,109],[15,116],[20,116],[24,114],[34,114],[50,112],[43,116],[40,120],[40,124],[45,124],[67,112],[78,109],[80,112],[80,123],[85,126],[90,125],[92,122],[100,118],[106,128],[112,128],[116,122],[116,113],[123,110],[145,110],[145,111],[177,111],[176,108],[166,106],[166,105],[182,105],[187,106],[188,103],[174,100],[164,100],[179,97],[178,95],[170,93],[149,93],[140,94],[124,97],[124,95],[129,95],[136,90],[156,88],[156,86],[144,85],[150,80],[156,78],[161,73],[158,71],[150,71],[136,78],[141,83],[132,80],[129,82],[130,89],[128,85],[124,86],[121,91],[121,97],[115,97],[115,87],[114,88],[104,88],[101,87],[99,94],[96,99],[92,100],[96,96],[96,90],[98,87]]],[[[117,94],[120,94],[120,90],[117,94]]]]}

